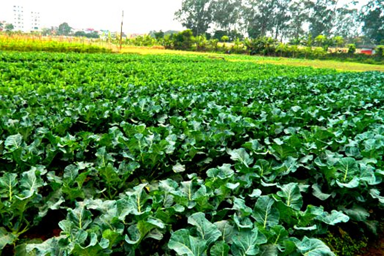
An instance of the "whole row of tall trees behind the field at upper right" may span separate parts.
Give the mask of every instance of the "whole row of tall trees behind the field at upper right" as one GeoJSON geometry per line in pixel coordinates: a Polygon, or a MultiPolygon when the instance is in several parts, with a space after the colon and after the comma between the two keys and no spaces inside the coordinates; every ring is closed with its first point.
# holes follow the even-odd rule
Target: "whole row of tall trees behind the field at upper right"
{"type": "Polygon", "coordinates": [[[176,20],[194,36],[227,35],[230,40],[269,36],[292,44],[302,37],[341,36],[346,41],[363,35],[384,44],[384,1],[368,0],[182,0],[176,20]]]}

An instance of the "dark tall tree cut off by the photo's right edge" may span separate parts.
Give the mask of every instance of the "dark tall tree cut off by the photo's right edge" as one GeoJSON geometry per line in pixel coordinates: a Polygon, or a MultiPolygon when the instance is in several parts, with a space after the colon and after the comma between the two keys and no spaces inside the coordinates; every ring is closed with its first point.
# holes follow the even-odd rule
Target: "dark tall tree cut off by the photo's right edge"
{"type": "Polygon", "coordinates": [[[360,20],[363,33],[375,43],[384,43],[384,1],[369,0],[362,7],[360,20]]]}

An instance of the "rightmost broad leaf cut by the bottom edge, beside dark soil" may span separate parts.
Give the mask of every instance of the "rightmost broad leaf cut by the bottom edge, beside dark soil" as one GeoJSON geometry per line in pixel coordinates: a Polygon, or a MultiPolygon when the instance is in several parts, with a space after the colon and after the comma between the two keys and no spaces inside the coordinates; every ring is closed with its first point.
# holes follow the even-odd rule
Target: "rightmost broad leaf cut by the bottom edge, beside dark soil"
{"type": "Polygon", "coordinates": [[[299,252],[304,256],[334,256],[334,253],[321,240],[315,238],[304,238],[294,242],[299,252]]]}

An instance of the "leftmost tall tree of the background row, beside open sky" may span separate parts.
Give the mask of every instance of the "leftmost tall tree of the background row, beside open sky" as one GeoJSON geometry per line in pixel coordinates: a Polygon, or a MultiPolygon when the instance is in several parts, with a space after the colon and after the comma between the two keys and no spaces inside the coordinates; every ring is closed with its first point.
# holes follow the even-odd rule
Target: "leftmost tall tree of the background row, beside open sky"
{"type": "Polygon", "coordinates": [[[212,21],[211,0],[182,0],[181,9],[174,15],[183,26],[192,30],[193,35],[203,34],[212,21]]]}

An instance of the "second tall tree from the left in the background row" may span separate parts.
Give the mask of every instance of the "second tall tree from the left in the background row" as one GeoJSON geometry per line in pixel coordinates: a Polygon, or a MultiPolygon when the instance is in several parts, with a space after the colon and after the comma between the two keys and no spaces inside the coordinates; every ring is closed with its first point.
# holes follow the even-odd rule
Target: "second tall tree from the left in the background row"
{"type": "Polygon", "coordinates": [[[220,29],[229,32],[239,22],[241,0],[213,0],[210,4],[212,21],[220,29]]]}

